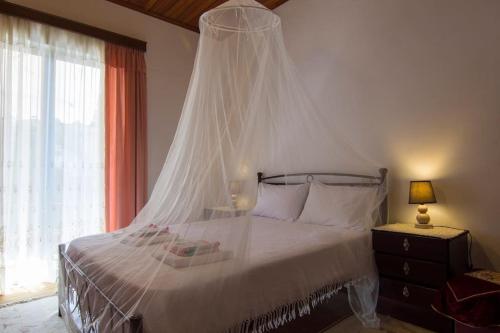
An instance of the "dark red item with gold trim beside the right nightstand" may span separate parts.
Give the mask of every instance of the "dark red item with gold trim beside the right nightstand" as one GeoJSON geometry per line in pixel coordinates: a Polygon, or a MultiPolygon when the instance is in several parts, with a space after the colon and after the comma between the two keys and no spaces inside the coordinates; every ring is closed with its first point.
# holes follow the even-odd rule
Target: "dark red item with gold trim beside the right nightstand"
{"type": "MultiPolygon", "coordinates": [[[[485,271],[453,278],[446,283],[432,307],[467,326],[500,325],[500,284],[488,279],[485,271]]],[[[498,273],[496,273],[498,274],[498,273]]]]}

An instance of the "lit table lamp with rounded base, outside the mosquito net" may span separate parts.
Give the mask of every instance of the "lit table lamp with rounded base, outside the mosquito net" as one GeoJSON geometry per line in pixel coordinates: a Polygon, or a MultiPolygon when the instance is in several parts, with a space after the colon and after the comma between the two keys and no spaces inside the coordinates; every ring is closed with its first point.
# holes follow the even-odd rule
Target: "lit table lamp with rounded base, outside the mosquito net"
{"type": "Polygon", "coordinates": [[[415,228],[432,228],[431,217],[427,214],[426,203],[436,203],[436,196],[430,180],[410,181],[409,204],[418,204],[415,228]]]}

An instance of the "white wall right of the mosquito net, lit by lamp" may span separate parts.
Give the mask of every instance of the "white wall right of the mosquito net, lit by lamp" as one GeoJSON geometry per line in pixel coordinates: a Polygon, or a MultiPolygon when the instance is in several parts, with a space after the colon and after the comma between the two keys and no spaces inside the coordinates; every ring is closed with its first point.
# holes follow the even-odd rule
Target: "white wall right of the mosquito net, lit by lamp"
{"type": "Polygon", "coordinates": [[[313,100],[389,168],[390,219],[413,222],[410,179],[431,179],[432,222],[468,228],[500,269],[500,1],[290,0],[287,47],[313,100]]]}

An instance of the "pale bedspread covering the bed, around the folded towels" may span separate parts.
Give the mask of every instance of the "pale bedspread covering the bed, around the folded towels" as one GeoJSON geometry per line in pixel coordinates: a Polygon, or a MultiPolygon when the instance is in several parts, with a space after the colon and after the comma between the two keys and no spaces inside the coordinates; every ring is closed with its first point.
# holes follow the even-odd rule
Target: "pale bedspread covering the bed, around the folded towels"
{"type": "Polygon", "coordinates": [[[232,259],[182,269],[158,264],[154,245],[131,250],[118,243],[113,253],[98,255],[95,249],[109,246],[113,234],[76,239],[67,253],[84,263],[82,270],[123,309],[142,300],[132,311],[142,316],[144,332],[228,331],[373,268],[369,230],[237,217],[172,226],[172,231],[220,240],[221,230],[235,228],[248,237],[221,244],[235,253],[232,259]],[[120,265],[110,265],[117,260],[120,265]]]}

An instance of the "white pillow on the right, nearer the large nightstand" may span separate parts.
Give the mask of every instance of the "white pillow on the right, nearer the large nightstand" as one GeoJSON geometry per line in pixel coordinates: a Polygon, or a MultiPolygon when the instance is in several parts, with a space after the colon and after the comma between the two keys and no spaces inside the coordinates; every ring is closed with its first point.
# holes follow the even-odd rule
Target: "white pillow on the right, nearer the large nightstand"
{"type": "Polygon", "coordinates": [[[377,201],[375,187],[312,183],[299,221],[321,225],[366,226],[377,201]]]}

